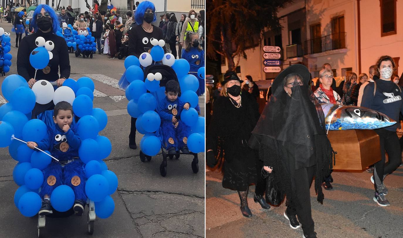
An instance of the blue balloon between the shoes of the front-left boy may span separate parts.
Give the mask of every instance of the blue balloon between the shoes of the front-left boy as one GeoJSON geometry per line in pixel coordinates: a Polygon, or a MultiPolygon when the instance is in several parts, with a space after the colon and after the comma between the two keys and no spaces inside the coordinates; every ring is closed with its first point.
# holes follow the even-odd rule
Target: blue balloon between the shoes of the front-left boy
{"type": "Polygon", "coordinates": [[[75,195],[71,187],[67,185],[59,185],[52,191],[50,195],[50,201],[52,201],[52,207],[56,211],[64,212],[68,211],[74,205],[75,195]]]}

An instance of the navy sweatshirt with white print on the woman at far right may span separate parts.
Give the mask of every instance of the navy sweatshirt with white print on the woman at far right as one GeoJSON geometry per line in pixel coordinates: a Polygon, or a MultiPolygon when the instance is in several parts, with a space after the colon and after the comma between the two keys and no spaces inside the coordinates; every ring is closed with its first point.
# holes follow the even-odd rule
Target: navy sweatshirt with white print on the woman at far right
{"type": "Polygon", "coordinates": [[[396,131],[399,123],[399,113],[403,111],[401,88],[393,81],[376,80],[376,92],[374,96],[374,82],[370,82],[362,95],[361,107],[367,107],[385,114],[397,121],[395,125],[385,127],[388,131],[396,131]]]}

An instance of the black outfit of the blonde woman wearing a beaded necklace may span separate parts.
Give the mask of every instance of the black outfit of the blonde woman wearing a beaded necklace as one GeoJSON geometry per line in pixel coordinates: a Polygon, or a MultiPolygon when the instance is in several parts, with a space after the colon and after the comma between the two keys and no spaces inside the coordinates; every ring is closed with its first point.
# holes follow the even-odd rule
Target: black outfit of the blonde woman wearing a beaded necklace
{"type": "Polygon", "coordinates": [[[246,191],[256,183],[256,154],[247,140],[257,122],[256,106],[247,94],[241,94],[241,107],[229,97],[214,102],[212,120],[207,133],[207,148],[224,157],[222,187],[246,191]]]}

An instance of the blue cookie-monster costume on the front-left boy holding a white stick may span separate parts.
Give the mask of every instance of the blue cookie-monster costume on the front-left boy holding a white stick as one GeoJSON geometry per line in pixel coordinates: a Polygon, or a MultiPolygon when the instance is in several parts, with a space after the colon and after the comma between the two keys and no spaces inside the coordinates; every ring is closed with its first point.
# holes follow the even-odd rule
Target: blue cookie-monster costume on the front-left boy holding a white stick
{"type": "MultiPolygon", "coordinates": [[[[50,123],[50,121],[46,122],[50,123]]],[[[43,171],[44,183],[42,184],[39,196],[42,198],[46,194],[50,196],[57,186],[68,185],[74,191],[75,200],[81,200],[85,203],[87,200],[87,195],[85,194],[85,165],[78,158],[81,139],[76,135],[77,126],[72,124],[71,129],[64,133],[56,123],[52,125],[48,123],[48,137],[41,142],[37,142],[38,148],[48,150],[52,156],[60,161],[52,161],[43,171]],[[67,160],[73,161],[68,162],[67,160]],[[62,167],[62,164],[65,164],[64,167],[62,167]],[[56,178],[56,183],[52,186],[48,184],[48,177],[51,175],[56,178]],[[81,180],[81,183],[77,186],[71,183],[71,179],[74,176],[78,176],[81,180]]]]}

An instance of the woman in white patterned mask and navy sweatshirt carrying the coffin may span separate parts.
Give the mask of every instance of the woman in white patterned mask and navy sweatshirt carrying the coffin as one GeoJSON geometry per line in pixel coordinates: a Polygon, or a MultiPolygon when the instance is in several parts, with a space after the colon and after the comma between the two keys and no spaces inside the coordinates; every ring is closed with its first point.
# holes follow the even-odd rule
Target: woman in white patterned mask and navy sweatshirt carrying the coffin
{"type": "MultiPolygon", "coordinates": [[[[384,113],[391,119],[399,121],[399,113],[403,110],[401,100],[403,94],[401,87],[391,81],[393,71],[396,70],[395,62],[392,57],[384,55],[378,59],[376,66],[376,75],[380,80],[370,82],[364,88],[361,107],[384,113]]],[[[385,198],[388,189],[383,183],[384,178],[391,174],[402,160],[396,129],[397,124],[374,130],[379,135],[381,160],[374,164],[374,175],[371,176],[371,182],[374,183],[375,189],[373,200],[382,207],[390,205],[385,198]],[[387,163],[385,163],[385,151],[388,153],[387,163]]]]}

